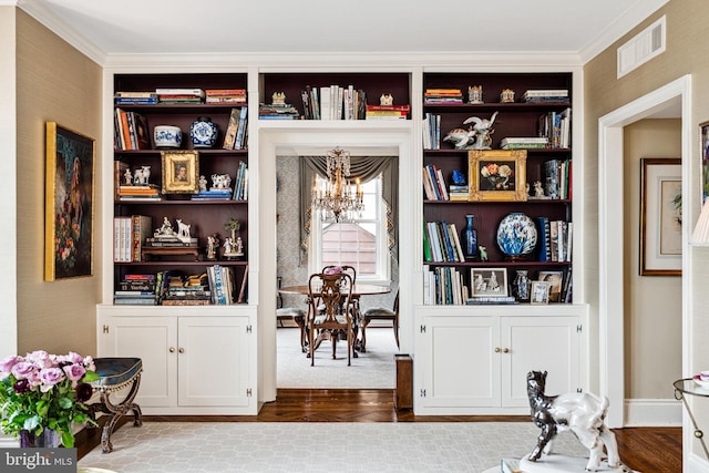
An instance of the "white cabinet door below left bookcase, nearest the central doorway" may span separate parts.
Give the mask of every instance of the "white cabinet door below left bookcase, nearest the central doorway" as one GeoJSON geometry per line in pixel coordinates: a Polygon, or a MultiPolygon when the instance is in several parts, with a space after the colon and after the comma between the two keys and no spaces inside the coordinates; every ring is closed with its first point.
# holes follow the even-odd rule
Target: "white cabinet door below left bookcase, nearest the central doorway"
{"type": "Polygon", "coordinates": [[[178,404],[249,402],[248,317],[179,317],[178,404]]]}

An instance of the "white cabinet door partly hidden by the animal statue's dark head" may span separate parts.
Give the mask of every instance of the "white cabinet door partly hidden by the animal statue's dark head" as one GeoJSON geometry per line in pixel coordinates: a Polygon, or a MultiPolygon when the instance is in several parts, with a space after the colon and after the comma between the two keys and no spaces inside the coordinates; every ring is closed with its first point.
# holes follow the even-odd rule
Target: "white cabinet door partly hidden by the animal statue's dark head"
{"type": "Polygon", "coordinates": [[[577,317],[502,317],[502,407],[527,407],[527,373],[547,371],[546,393],[579,387],[577,317]],[[507,349],[507,352],[504,350],[507,349]]]}

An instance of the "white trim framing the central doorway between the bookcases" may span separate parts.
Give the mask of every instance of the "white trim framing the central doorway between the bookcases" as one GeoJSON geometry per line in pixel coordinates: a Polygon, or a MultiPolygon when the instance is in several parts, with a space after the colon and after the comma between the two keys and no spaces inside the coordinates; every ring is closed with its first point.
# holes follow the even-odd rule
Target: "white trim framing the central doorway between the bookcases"
{"type": "MultiPolygon", "coordinates": [[[[403,122],[403,121],[402,121],[403,122]]],[[[258,208],[254,220],[258,222],[258,257],[255,264],[255,273],[251,277],[257,280],[258,290],[258,372],[259,372],[259,403],[270,402],[276,399],[277,391],[277,347],[276,347],[276,158],[284,155],[297,155],[296,150],[322,148],[330,150],[335,146],[343,147],[352,154],[358,150],[368,153],[380,152],[399,156],[399,182],[415,183],[420,179],[421,171],[417,166],[405,163],[414,162],[413,154],[413,125],[412,121],[405,123],[384,124],[367,121],[348,123],[295,123],[280,125],[259,124],[258,150],[256,154],[258,208]],[[292,126],[295,125],[295,126],[292,126]]],[[[399,254],[412,255],[420,241],[420,229],[417,232],[418,222],[412,216],[417,215],[414,185],[399,186],[399,254]]],[[[251,206],[249,205],[249,212],[251,206]]],[[[412,294],[415,267],[413,258],[400,258],[399,260],[399,288],[402,294],[412,294]]],[[[249,273],[251,269],[249,268],[249,273]]],[[[253,279],[251,279],[253,280],[253,279]]],[[[412,321],[407,320],[407,313],[413,313],[413,298],[402,297],[404,304],[400,313],[401,350],[410,352],[412,343],[412,321]],[[407,306],[407,307],[404,307],[407,306]],[[410,307],[409,307],[410,306],[410,307]]]]}

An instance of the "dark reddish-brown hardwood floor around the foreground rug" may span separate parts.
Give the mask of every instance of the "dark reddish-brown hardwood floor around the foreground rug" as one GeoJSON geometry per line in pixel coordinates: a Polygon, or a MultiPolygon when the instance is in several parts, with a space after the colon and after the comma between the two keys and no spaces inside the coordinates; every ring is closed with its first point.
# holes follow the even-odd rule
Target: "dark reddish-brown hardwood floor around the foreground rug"
{"type": "MultiPolygon", "coordinates": [[[[146,422],[531,422],[527,415],[414,415],[397,412],[392,390],[279,389],[275,402],[258,415],[144,415],[146,422]]],[[[124,418],[122,423],[132,422],[124,418]]],[[[614,430],[620,460],[644,473],[682,471],[679,428],[626,428],[614,430]]],[[[101,430],[76,436],[78,455],[93,450],[101,430]]]]}

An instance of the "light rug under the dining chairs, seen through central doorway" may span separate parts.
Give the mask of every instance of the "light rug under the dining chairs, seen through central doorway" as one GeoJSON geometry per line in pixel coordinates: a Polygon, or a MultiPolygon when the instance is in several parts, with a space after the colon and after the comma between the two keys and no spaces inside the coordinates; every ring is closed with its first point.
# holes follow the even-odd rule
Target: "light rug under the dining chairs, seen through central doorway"
{"type": "Polygon", "coordinates": [[[300,351],[300,331],[297,328],[277,330],[278,388],[339,388],[393,389],[395,383],[394,353],[398,353],[394,333],[389,328],[367,330],[367,352],[358,353],[347,366],[346,342],[337,343],[337,359],[332,346],[323,341],[316,351],[315,367],[300,351]]]}

